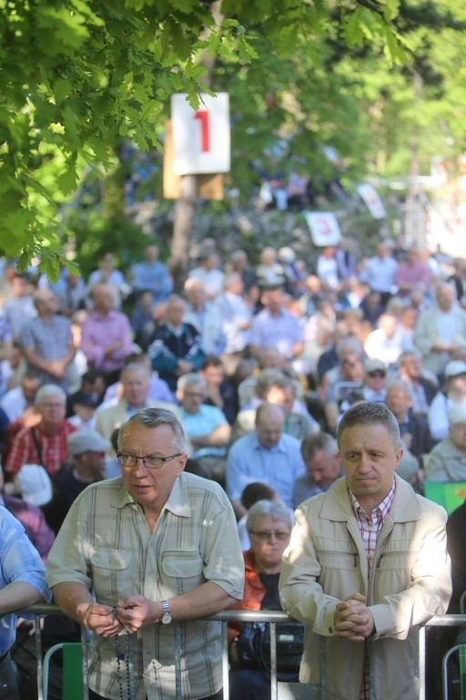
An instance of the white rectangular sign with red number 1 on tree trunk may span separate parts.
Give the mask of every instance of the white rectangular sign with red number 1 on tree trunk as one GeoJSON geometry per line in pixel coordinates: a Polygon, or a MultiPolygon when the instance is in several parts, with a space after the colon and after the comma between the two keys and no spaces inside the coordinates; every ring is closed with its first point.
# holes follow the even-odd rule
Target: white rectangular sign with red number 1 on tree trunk
{"type": "Polygon", "coordinates": [[[198,109],[181,93],[171,97],[173,171],[176,175],[228,172],[230,168],[228,93],[199,96],[198,109]]]}

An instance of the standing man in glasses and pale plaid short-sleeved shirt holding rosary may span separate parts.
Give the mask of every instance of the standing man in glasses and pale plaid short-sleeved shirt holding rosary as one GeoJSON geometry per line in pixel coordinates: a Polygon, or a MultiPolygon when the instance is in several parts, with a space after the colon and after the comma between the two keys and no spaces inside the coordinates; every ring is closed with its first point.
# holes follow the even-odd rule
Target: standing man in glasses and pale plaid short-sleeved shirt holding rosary
{"type": "Polygon", "coordinates": [[[218,484],[184,472],[171,411],[130,417],[118,460],[121,478],[75,500],[47,568],[56,603],[93,633],[89,697],[219,700],[221,625],[200,618],[243,595],[233,510],[218,484]]]}

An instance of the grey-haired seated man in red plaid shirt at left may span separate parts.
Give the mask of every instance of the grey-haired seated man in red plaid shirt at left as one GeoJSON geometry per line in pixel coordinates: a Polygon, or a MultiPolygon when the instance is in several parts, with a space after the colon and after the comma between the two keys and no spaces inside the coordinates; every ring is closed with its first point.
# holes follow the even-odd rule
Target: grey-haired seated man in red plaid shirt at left
{"type": "Polygon", "coordinates": [[[24,464],[40,464],[52,476],[66,461],[66,438],[76,430],[65,418],[66,393],[56,384],[46,384],[38,390],[35,402],[39,423],[16,434],[5,461],[10,479],[24,464]]]}

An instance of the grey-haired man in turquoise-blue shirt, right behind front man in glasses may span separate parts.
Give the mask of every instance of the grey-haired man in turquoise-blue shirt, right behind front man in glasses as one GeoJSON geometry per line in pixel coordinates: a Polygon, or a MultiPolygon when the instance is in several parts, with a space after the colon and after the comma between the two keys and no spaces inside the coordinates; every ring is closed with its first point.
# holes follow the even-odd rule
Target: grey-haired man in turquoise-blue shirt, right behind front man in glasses
{"type": "Polygon", "coordinates": [[[203,403],[206,396],[207,382],[202,376],[179,377],[179,418],[194,449],[192,458],[206,468],[210,477],[223,482],[231,427],[218,407],[203,403]]]}

